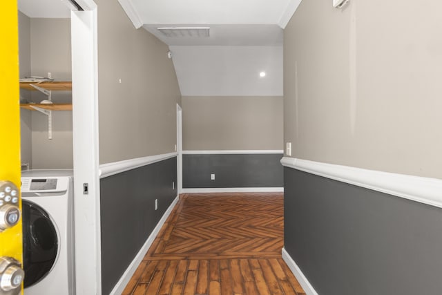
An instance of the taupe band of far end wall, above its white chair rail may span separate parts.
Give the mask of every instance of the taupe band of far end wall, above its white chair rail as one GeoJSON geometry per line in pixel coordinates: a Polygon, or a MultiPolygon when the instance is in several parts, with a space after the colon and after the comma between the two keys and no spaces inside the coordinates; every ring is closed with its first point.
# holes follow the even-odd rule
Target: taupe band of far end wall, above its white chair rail
{"type": "Polygon", "coordinates": [[[282,97],[182,97],[183,149],[281,150],[282,97]]]}

